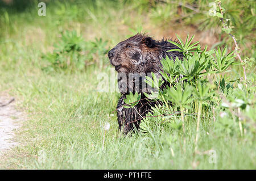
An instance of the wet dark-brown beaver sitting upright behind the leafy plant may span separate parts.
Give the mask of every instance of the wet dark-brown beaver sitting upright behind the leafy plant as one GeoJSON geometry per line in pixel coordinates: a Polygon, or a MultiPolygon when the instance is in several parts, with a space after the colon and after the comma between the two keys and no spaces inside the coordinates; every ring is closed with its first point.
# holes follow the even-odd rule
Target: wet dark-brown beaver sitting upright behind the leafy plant
{"type": "MultiPolygon", "coordinates": [[[[178,49],[178,47],[171,44],[167,39],[154,40],[148,35],[138,33],[127,40],[121,41],[108,52],[110,64],[118,72],[118,87],[121,97],[117,104],[117,117],[119,130],[123,131],[123,133],[127,134],[132,130],[138,130],[143,117],[156,104],[154,101],[148,101],[144,95],[144,92],[150,92],[147,87],[145,89],[142,86],[145,75],[151,74],[151,72],[160,73],[163,70],[160,61],[166,56],[170,60],[171,57],[173,60],[176,57],[183,58],[183,53],[181,52],[167,52],[170,49],[178,49]],[[134,77],[136,76],[130,78],[130,74],[138,75],[137,85],[134,85],[134,77]],[[136,89],[136,87],[139,88],[136,89]],[[141,93],[141,100],[133,108],[123,107],[126,95],[135,91],[141,93]]],[[[161,75],[158,74],[159,76],[161,75]]]]}

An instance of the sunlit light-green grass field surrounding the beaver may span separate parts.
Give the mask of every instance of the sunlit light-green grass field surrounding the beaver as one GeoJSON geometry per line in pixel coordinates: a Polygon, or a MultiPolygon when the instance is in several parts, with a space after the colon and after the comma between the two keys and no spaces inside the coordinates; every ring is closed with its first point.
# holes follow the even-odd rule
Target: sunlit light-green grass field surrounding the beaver
{"type": "MultiPolygon", "coordinates": [[[[110,75],[112,68],[106,54],[92,54],[91,63],[82,70],[43,69],[48,62],[42,55],[56,49],[53,45],[65,30],[75,30],[86,42],[101,38],[106,50],[140,27],[156,38],[178,33],[185,39],[187,33],[195,33],[200,40],[204,31],[184,22],[172,28],[158,26],[137,3],[56,1],[47,4],[46,16],[38,16],[36,2],[30,6],[0,11],[0,94],[19,100],[19,110],[28,117],[16,132],[21,144],[1,158],[1,169],[256,169],[255,131],[245,127],[241,136],[237,124],[221,129],[213,113],[201,121],[201,154],[194,151],[196,115],[185,119],[185,144],[180,132],[171,128],[146,136],[141,132],[122,136],[115,112],[119,93],[97,91],[97,75],[110,75]],[[110,129],[105,132],[106,123],[110,129]],[[211,163],[208,150],[215,151],[216,163],[211,163]]],[[[204,39],[203,44],[212,46],[220,42],[218,38],[204,39]]],[[[250,87],[255,86],[254,69],[247,70],[250,87]]],[[[231,69],[230,80],[242,77],[241,70],[231,69]]]]}

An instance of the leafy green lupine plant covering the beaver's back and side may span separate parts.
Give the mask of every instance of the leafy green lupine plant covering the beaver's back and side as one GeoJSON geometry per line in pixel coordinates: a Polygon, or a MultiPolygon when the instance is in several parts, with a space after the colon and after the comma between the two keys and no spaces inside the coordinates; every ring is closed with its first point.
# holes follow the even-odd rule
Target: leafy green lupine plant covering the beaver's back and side
{"type": "MultiPolygon", "coordinates": [[[[152,94],[145,95],[148,99],[154,98],[159,102],[163,102],[163,104],[152,108],[152,112],[144,117],[141,123],[141,129],[143,133],[148,132],[152,135],[152,124],[150,124],[152,121],[156,121],[156,123],[159,123],[159,120],[163,121],[160,121],[163,124],[153,124],[154,130],[158,130],[158,132],[161,129],[155,129],[157,125],[162,125],[164,129],[164,124],[166,124],[166,127],[169,127],[170,125],[180,125],[181,123],[183,135],[185,136],[185,125],[187,123],[185,120],[188,119],[184,119],[184,117],[190,116],[192,119],[189,120],[191,121],[193,117],[197,115],[195,153],[200,153],[198,149],[200,122],[216,121],[217,116],[215,112],[226,112],[227,109],[229,109],[230,115],[233,117],[234,127],[236,127],[238,123],[237,127],[240,129],[241,135],[243,135],[243,128],[246,127],[246,122],[242,122],[241,119],[249,120],[248,122],[250,124],[253,124],[253,122],[250,117],[243,117],[241,115],[241,109],[245,109],[246,105],[254,104],[254,100],[249,99],[249,103],[245,100],[246,96],[244,96],[243,99],[237,98],[237,94],[243,92],[242,89],[240,93],[238,93],[239,91],[234,92],[234,85],[239,85],[239,80],[226,83],[226,71],[229,70],[230,66],[240,65],[236,63],[236,56],[234,56],[233,52],[228,53],[226,47],[224,49],[217,47],[215,50],[207,50],[207,47],[201,49],[199,42],[192,43],[193,36],[190,40],[188,40],[188,37],[189,36],[187,36],[185,43],[182,43],[179,36],[177,36],[177,39],[179,39],[180,44],[170,41],[179,48],[179,52],[183,52],[183,60],[176,58],[174,61],[172,58],[166,57],[166,59],[161,61],[163,70],[160,74],[162,76],[158,78],[152,73],[152,78],[147,77],[146,83],[156,87],[158,94],[152,92],[152,94]],[[219,74],[220,77],[217,76],[219,74]],[[161,89],[160,87],[164,81],[167,81],[169,86],[161,89]],[[237,102],[236,106],[234,106],[234,103],[228,101],[230,99],[237,102]],[[218,108],[215,110],[216,107],[218,108]],[[240,110],[238,108],[240,108],[240,110]],[[235,113],[236,110],[234,109],[237,109],[240,113],[235,113]],[[180,121],[179,115],[181,117],[180,121]]],[[[244,92],[241,93],[241,95],[242,94],[244,94],[244,92]]],[[[252,95],[254,94],[252,93],[252,95]]],[[[135,101],[138,100],[138,95],[129,94],[128,98],[135,101]]],[[[129,101],[125,101],[129,103],[129,101]]],[[[130,104],[130,107],[133,107],[133,104],[130,104]]],[[[250,108],[248,108],[248,110],[250,110],[250,108]]],[[[221,121],[220,119],[220,123],[221,121]]],[[[217,124],[216,128],[222,125],[226,124],[217,124]]],[[[236,129],[230,129],[230,131],[234,130],[236,129]]],[[[185,144],[185,137],[183,141],[185,144]]]]}

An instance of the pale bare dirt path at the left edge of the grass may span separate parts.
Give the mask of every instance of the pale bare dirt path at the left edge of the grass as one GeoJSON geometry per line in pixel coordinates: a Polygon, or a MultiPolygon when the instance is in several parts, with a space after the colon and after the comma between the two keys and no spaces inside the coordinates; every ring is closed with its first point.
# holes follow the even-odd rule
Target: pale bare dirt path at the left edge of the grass
{"type": "Polygon", "coordinates": [[[0,155],[18,145],[14,136],[22,117],[23,113],[15,109],[15,99],[0,95],[0,155]]]}

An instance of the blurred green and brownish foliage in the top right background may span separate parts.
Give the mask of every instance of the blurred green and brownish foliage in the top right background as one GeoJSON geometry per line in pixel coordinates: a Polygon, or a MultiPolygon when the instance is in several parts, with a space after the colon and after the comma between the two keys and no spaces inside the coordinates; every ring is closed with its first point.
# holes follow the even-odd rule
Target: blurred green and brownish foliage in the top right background
{"type": "MultiPolygon", "coordinates": [[[[144,0],[138,1],[142,2],[144,0]]],[[[158,1],[154,1],[158,2],[158,1]]],[[[232,47],[233,40],[226,33],[232,32],[237,37],[238,44],[243,49],[245,56],[255,57],[255,2],[254,0],[230,0],[222,1],[222,9],[225,12],[222,16],[218,7],[218,1],[160,1],[154,5],[145,4],[151,7],[148,14],[158,24],[172,26],[175,23],[183,23],[187,26],[196,27],[201,31],[209,31],[220,37],[222,44],[232,47]],[[225,9],[224,9],[225,7],[225,9]],[[228,19],[225,28],[220,27],[219,18],[228,19]],[[221,31],[223,30],[223,31],[221,31]],[[250,44],[250,45],[249,45],[250,44]]],[[[179,27],[179,26],[177,26],[179,27]]]]}

